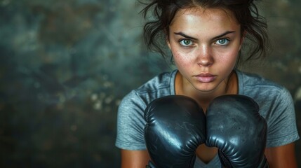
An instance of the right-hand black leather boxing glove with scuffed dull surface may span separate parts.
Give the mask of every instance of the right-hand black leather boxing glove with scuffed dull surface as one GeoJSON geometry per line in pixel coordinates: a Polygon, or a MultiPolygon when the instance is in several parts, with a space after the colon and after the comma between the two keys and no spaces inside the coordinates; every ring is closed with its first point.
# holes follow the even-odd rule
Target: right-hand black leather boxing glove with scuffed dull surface
{"type": "Polygon", "coordinates": [[[217,147],[224,167],[269,167],[265,158],[267,123],[257,103],[243,95],[224,95],[206,111],[206,146],[217,147]]]}

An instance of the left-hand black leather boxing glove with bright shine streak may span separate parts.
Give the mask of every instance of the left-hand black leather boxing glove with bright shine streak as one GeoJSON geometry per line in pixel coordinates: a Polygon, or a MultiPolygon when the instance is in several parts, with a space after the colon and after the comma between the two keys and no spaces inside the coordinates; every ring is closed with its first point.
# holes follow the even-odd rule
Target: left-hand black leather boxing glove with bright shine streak
{"type": "Polygon", "coordinates": [[[196,148],[206,139],[205,114],[194,99],[167,96],[145,109],[145,144],[149,167],[193,167],[196,148]]]}

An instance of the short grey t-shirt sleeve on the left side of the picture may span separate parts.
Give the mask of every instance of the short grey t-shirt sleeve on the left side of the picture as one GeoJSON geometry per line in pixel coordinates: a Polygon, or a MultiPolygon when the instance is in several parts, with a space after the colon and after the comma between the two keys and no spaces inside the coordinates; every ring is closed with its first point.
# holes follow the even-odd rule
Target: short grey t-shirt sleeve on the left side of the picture
{"type": "Polygon", "coordinates": [[[145,102],[130,92],[119,105],[117,113],[117,135],[115,145],[126,150],[145,150],[144,110],[145,102]]]}

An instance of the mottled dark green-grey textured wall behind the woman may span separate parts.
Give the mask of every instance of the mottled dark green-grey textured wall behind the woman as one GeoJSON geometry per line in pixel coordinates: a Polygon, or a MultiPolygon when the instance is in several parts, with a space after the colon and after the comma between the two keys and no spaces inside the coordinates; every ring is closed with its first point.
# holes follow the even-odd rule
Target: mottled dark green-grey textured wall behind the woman
{"type": "MultiPolygon", "coordinates": [[[[290,90],[300,131],[301,1],[261,6],[274,51],[243,69],[290,90]]],[[[173,69],[142,45],[140,9],[135,0],[0,0],[0,167],[119,167],[120,100],[173,69]]]]}

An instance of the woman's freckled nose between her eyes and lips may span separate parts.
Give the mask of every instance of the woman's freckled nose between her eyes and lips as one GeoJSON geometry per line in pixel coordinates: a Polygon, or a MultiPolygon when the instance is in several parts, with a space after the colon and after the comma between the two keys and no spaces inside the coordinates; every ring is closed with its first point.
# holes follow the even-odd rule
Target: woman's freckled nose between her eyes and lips
{"type": "Polygon", "coordinates": [[[209,46],[201,45],[198,57],[199,66],[210,66],[213,64],[213,55],[209,46]]]}

